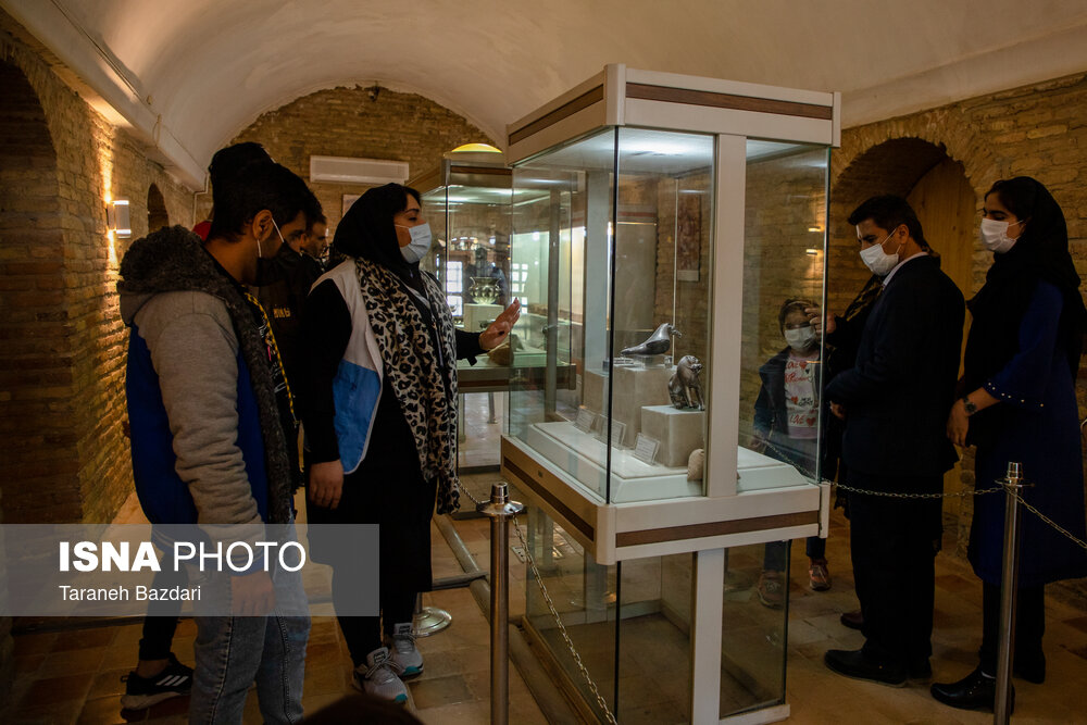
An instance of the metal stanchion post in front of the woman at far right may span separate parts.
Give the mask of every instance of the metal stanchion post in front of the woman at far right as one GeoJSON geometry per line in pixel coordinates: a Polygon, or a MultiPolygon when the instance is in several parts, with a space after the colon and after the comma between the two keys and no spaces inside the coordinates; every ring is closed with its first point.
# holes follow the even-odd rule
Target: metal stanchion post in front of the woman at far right
{"type": "Polygon", "coordinates": [[[992,722],[1005,725],[1012,711],[1012,654],[1015,651],[1015,590],[1019,584],[1019,536],[1022,511],[1016,497],[1025,485],[1023,464],[1008,463],[1000,482],[1007,491],[1004,508],[1004,561],[1000,577],[1000,645],[997,650],[997,698],[992,722]]]}

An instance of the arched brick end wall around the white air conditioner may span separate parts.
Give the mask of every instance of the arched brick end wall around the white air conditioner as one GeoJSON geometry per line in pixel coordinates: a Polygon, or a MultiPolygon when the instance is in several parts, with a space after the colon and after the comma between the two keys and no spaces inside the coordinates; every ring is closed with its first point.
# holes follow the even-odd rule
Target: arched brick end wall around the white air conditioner
{"type": "MultiPolygon", "coordinates": [[[[276,162],[310,179],[310,157],[354,157],[407,161],[414,176],[436,166],[441,154],[462,143],[495,143],[495,139],[449,109],[415,93],[383,88],[376,101],[360,87],[318,90],[261,115],[230,143],[258,141],[276,162]]],[[[317,195],[328,234],[339,223],[342,198],[368,186],[310,184],[317,195]]],[[[211,209],[201,195],[197,213],[211,209]]]]}

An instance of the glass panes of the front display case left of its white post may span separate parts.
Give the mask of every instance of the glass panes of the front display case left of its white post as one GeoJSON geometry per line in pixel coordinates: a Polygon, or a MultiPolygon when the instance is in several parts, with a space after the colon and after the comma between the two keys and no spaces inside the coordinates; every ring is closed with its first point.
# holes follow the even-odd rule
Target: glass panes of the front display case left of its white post
{"type": "Polygon", "coordinates": [[[511,435],[609,503],[699,496],[713,137],[609,128],[514,168],[516,330],[546,375],[511,382],[511,435]]]}

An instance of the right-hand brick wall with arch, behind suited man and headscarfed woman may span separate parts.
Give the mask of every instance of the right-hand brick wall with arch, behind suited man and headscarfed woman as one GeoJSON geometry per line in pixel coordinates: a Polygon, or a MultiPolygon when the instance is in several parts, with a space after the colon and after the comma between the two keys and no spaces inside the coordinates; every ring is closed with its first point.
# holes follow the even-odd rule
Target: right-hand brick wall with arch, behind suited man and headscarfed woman
{"type": "MultiPolygon", "coordinates": [[[[907,195],[945,155],[963,165],[980,210],[983,195],[998,178],[1034,176],[1064,210],[1072,258],[1087,273],[1087,74],[1076,74],[932,109],[842,132],[832,159],[829,279],[832,309],[841,309],[867,274],[857,255],[849,211],[872,193],[907,195]]],[[[976,239],[977,218],[973,239],[976,239]]],[[[969,299],[982,286],[991,257],[973,242],[969,299]]],[[[1080,416],[1087,410],[1087,368],[1076,386],[1080,416]]],[[[967,452],[962,487],[973,486],[967,452]]],[[[954,517],[955,551],[965,553],[972,501],[954,517]]],[[[1065,593],[1087,597],[1087,583],[1066,583],[1065,593]]]]}

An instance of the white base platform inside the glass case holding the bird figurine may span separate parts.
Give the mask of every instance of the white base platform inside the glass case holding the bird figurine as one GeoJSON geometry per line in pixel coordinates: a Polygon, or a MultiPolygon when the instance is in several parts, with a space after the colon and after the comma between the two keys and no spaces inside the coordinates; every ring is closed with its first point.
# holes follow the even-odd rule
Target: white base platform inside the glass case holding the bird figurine
{"type": "MultiPolygon", "coordinates": [[[[574,423],[554,421],[528,427],[526,441],[596,497],[603,498],[608,446],[574,423]]],[[[795,467],[746,448],[737,452],[739,491],[809,485],[795,467]]],[[[613,503],[689,498],[702,495],[701,480],[687,480],[687,466],[646,463],[633,450],[611,449],[613,503]]]]}

